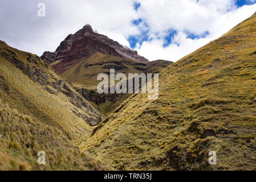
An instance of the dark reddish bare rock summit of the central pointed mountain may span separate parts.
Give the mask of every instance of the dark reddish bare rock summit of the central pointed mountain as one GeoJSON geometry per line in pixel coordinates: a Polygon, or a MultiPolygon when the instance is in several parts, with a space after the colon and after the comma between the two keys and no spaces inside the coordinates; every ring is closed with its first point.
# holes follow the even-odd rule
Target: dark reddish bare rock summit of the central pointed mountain
{"type": "Polygon", "coordinates": [[[92,27],[87,24],[74,35],[67,36],[55,52],[44,52],[41,59],[51,64],[59,61],[59,66],[54,66],[58,72],[62,72],[61,67],[67,64],[74,64],[80,57],[90,57],[95,52],[102,52],[122,58],[135,59],[137,61],[148,63],[149,61],[137,54],[128,47],[121,46],[118,42],[109,39],[105,35],[97,34],[92,27]]]}

